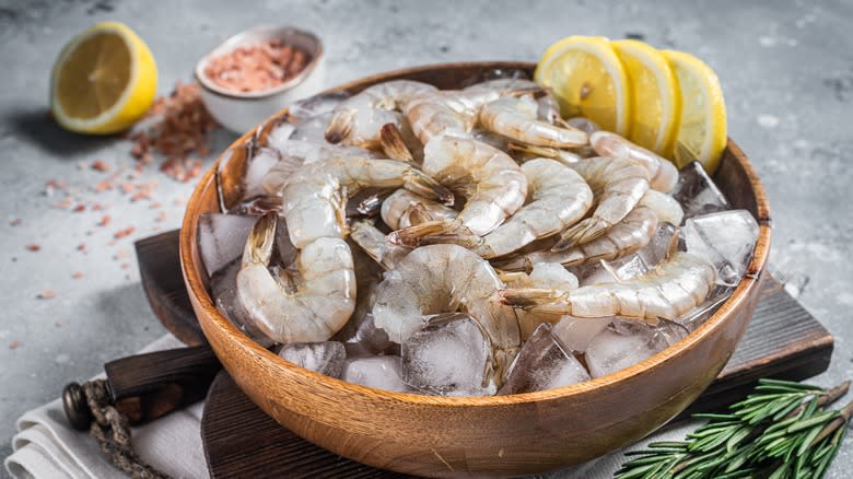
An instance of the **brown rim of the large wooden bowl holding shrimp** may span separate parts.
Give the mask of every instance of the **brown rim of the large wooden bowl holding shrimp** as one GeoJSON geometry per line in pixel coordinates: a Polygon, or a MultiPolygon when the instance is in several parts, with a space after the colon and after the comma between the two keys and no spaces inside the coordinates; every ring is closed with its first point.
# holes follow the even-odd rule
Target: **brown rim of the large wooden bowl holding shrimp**
{"type": "MultiPolygon", "coordinates": [[[[413,74],[431,70],[441,70],[448,68],[515,68],[515,69],[528,69],[534,70],[536,63],[526,61],[467,61],[467,62],[445,62],[434,63],[428,66],[420,66],[413,68],[390,70],[383,73],[376,73],[361,79],[357,79],[347,83],[342,83],[337,86],[324,90],[317,95],[323,95],[331,92],[343,91],[355,85],[363,85],[370,83],[376,83],[379,81],[389,80],[396,77],[413,74]]],[[[259,125],[266,125],[271,120],[281,118],[287,114],[287,108],[276,113],[269,118],[265,119],[259,125]]],[[[192,190],[192,195],[187,202],[187,210],[184,214],[184,220],[180,229],[180,264],[184,272],[185,282],[187,283],[189,291],[195,296],[195,301],[198,305],[205,309],[209,315],[209,318],[217,328],[221,329],[223,336],[226,336],[232,346],[235,346],[243,350],[243,353],[252,357],[269,361],[276,367],[289,370],[293,373],[299,373],[311,381],[316,381],[319,387],[337,388],[354,395],[366,395],[373,398],[398,402],[398,404],[417,404],[421,406],[437,406],[437,407],[453,407],[453,408],[467,408],[467,407],[503,407],[511,405],[534,404],[540,401],[548,401],[554,399],[565,399],[574,396],[580,396],[592,389],[607,389],[614,387],[618,383],[632,376],[642,375],[643,373],[653,370],[656,366],[662,365],[670,360],[677,360],[677,357],[685,354],[693,346],[702,341],[702,339],[709,336],[712,331],[722,327],[724,319],[729,313],[737,309],[741,304],[749,300],[748,290],[756,287],[761,279],[761,273],[766,270],[768,256],[770,254],[770,235],[771,235],[771,219],[770,208],[768,205],[767,194],[764,188],[758,178],[758,175],[749,162],[748,157],[740,148],[731,139],[727,139],[726,149],[735,157],[735,160],[743,167],[746,179],[751,185],[756,197],[756,221],[759,225],[759,236],[756,242],[755,252],[751,261],[747,266],[747,272],[744,279],[737,285],[732,296],[726,300],[721,307],[702,324],[699,328],[691,331],[687,337],[682,338],[675,344],[664,349],[663,351],[653,354],[652,357],[635,363],[623,370],[607,374],[601,377],[592,378],[582,383],[572,384],[569,386],[562,386],[553,389],[545,389],[533,393],[514,394],[506,396],[428,396],[414,393],[397,393],[385,389],[376,389],[372,387],[361,386],[353,383],[348,383],[342,379],[326,376],[314,371],[309,371],[292,364],[278,354],[261,347],[257,342],[249,339],[243,331],[241,331],[231,320],[225,318],[215,304],[212,302],[210,294],[205,288],[205,283],[201,280],[200,271],[203,269],[201,265],[195,265],[192,262],[191,249],[197,236],[197,219],[200,215],[200,195],[206,185],[210,184],[215,176],[215,172],[219,168],[220,162],[224,154],[231,151],[235,145],[244,144],[249,141],[258,127],[245,132],[238,139],[236,139],[231,145],[229,145],[217,157],[213,165],[199,179],[199,183],[192,190]]],[[[202,331],[205,330],[205,322],[201,322],[202,331]]],[[[207,331],[205,331],[207,336],[207,331]]],[[[237,382],[239,384],[239,382],[237,382]]]]}

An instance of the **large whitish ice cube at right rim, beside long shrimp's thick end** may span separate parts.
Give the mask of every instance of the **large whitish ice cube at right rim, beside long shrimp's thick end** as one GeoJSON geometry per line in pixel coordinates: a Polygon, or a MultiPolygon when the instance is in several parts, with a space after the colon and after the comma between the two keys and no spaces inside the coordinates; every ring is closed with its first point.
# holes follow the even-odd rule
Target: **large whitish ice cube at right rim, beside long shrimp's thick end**
{"type": "Polygon", "coordinates": [[[681,234],[688,253],[716,266],[721,284],[736,285],[752,259],[758,232],[749,211],[733,210],[691,218],[681,234]]]}

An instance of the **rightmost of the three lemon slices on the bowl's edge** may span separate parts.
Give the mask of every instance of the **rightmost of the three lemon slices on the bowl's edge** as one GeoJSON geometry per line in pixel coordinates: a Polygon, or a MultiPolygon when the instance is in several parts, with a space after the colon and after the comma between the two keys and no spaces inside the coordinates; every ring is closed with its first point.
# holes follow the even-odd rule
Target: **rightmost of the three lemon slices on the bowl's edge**
{"type": "Polygon", "coordinates": [[[681,95],[673,157],[678,167],[693,160],[714,173],[726,147],[726,104],[711,68],[690,54],[662,51],[678,81],[681,95]]]}

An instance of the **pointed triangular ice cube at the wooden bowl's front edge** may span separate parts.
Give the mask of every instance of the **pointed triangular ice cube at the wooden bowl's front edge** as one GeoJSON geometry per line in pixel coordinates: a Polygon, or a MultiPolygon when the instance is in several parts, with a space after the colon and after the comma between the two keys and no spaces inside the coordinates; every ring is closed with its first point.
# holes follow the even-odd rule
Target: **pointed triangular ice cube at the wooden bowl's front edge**
{"type": "Polygon", "coordinates": [[[589,373],[542,323],[524,343],[498,394],[553,389],[589,379],[589,373]]]}

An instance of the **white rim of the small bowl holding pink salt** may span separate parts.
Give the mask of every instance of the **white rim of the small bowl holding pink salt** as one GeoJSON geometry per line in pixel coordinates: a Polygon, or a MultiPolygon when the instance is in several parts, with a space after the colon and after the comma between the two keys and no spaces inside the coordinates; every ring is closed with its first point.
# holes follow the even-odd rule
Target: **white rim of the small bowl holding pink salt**
{"type": "Polygon", "coordinates": [[[289,90],[292,90],[300,83],[304,82],[305,79],[307,79],[308,75],[313,73],[314,70],[317,68],[317,65],[323,59],[325,51],[323,47],[323,40],[313,32],[309,32],[307,30],[302,30],[291,25],[273,25],[273,24],[258,25],[258,26],[253,26],[250,28],[246,28],[241,32],[237,32],[234,35],[231,35],[230,37],[217,44],[215,47],[211,48],[207,54],[202,55],[201,58],[196,62],[196,68],[192,70],[192,74],[196,78],[196,81],[199,83],[199,85],[201,85],[201,87],[205,89],[210,94],[223,96],[231,100],[243,100],[243,101],[267,100],[271,96],[276,96],[289,90]],[[281,37],[285,33],[301,35],[306,37],[309,42],[314,43],[316,51],[312,52],[311,60],[308,61],[307,65],[305,65],[305,68],[303,68],[302,71],[293,75],[287,82],[278,86],[274,86],[272,89],[261,90],[257,92],[234,92],[231,90],[223,89],[222,86],[219,86],[207,75],[207,73],[205,73],[205,67],[207,66],[208,60],[210,60],[210,58],[214,56],[223,55],[225,52],[235,49],[246,36],[253,33],[273,33],[276,37],[281,37]]]}

